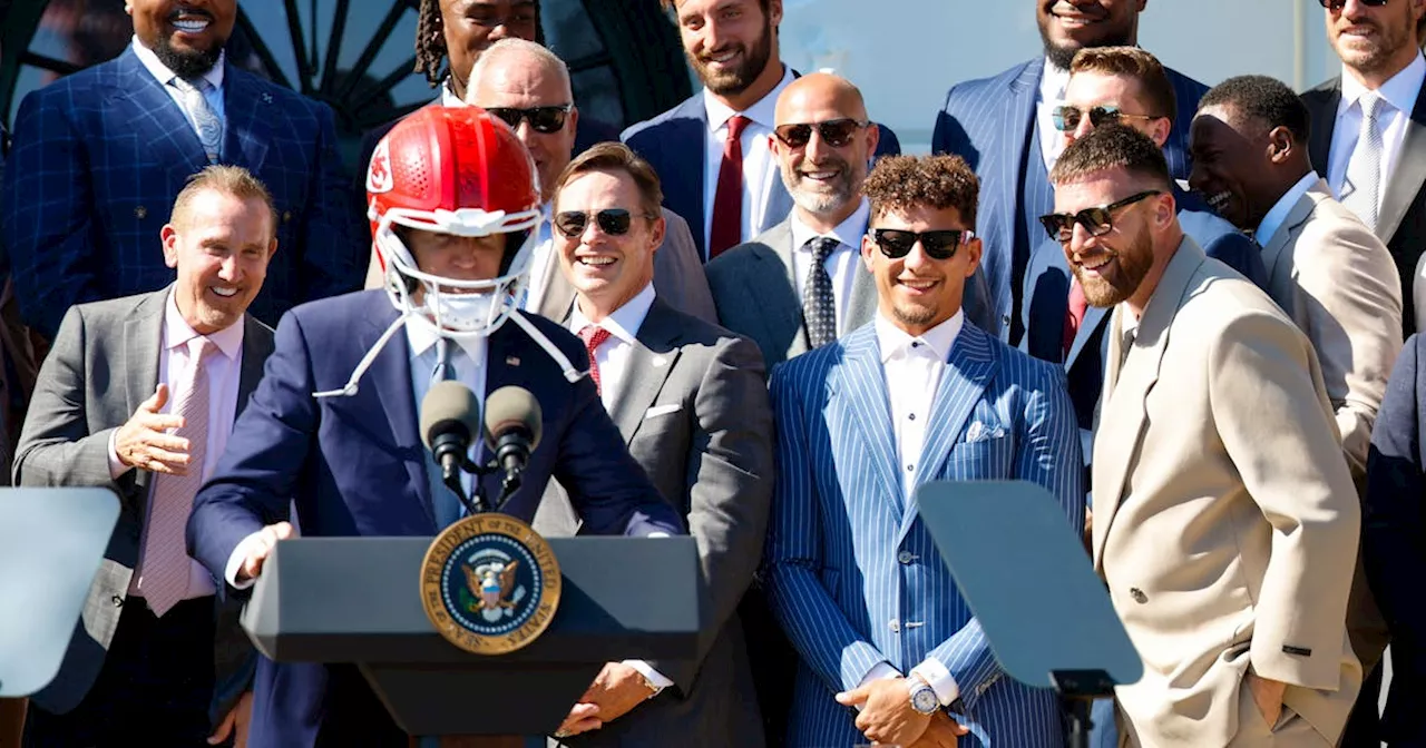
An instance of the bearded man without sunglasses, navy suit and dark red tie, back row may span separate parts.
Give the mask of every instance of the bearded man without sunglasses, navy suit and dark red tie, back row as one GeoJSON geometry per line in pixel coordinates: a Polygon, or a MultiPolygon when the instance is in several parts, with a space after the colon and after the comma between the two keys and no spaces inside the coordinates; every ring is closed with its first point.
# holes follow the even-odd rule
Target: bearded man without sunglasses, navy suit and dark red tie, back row
{"type": "MultiPolygon", "coordinates": [[[[793,209],[771,151],[773,110],[799,77],[779,56],[783,0],[660,0],[703,83],[622,138],[663,180],[663,204],[693,228],[704,261],[752,241],[793,209]]],[[[876,155],[901,152],[880,130],[876,155]]]]}

